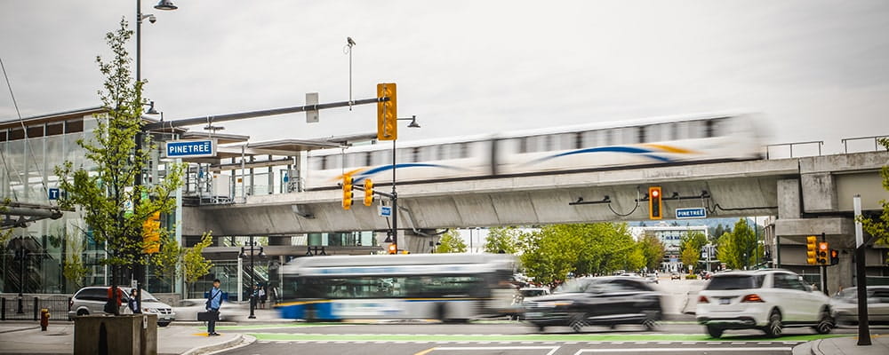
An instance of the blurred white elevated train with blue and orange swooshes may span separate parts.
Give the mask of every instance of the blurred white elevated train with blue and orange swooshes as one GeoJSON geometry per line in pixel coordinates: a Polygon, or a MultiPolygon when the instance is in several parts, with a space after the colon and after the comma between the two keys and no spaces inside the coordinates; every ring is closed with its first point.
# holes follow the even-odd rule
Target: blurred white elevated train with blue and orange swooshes
{"type": "MultiPolygon", "coordinates": [[[[755,114],[697,114],[398,143],[398,183],[539,175],[761,159],[755,114]]],[[[392,181],[392,146],[324,149],[308,156],[306,186],[392,181]]]]}

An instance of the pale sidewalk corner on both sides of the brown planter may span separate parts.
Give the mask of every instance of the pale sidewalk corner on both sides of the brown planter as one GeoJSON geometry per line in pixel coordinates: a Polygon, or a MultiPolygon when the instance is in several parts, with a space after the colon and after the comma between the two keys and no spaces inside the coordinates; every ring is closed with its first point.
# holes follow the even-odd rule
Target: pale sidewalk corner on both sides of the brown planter
{"type": "MultiPolygon", "coordinates": [[[[222,331],[220,336],[207,336],[196,326],[157,328],[158,354],[195,355],[252,343],[250,336],[222,331]]],[[[47,331],[35,324],[17,322],[0,324],[0,354],[71,354],[74,352],[74,323],[56,322],[47,331]]]]}

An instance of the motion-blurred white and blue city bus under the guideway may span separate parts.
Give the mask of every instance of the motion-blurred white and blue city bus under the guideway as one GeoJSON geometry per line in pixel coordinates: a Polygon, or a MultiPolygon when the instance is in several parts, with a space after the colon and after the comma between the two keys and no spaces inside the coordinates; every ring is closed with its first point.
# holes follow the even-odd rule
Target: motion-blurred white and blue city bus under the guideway
{"type": "Polygon", "coordinates": [[[513,315],[517,262],[503,254],[306,256],[282,266],[284,319],[439,319],[513,315]]]}

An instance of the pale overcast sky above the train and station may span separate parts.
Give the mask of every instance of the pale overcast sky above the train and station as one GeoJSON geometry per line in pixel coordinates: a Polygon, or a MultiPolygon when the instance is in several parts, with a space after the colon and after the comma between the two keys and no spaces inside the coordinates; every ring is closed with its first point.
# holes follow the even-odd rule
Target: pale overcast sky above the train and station
{"type": "MultiPolygon", "coordinates": [[[[889,134],[889,2],[178,0],[142,33],[166,120],[355,99],[398,85],[403,139],[749,109],[770,143],[889,134]]],[[[135,1],[0,0],[0,58],[25,116],[99,106],[96,55],[135,1]]],[[[134,43],[132,45],[134,54],[134,43]]],[[[15,118],[5,83],[0,120],[15,118]]],[[[249,122],[254,140],[375,130],[373,106],[249,122]]],[[[196,128],[200,130],[200,128],[196,128]]]]}

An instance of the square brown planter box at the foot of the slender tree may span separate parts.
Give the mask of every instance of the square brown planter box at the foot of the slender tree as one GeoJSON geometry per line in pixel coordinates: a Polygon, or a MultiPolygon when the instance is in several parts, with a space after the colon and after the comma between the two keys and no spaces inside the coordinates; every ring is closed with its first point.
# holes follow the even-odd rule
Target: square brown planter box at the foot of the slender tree
{"type": "Polygon", "coordinates": [[[74,353],[156,355],[157,315],[76,317],[74,353]]]}

